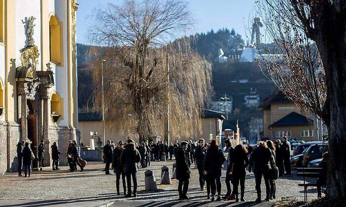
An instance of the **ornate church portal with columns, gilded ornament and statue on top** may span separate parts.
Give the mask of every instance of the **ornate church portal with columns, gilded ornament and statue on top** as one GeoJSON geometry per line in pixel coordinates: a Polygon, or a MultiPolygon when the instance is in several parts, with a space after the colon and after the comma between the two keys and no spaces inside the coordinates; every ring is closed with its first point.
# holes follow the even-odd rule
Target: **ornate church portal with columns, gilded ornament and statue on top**
{"type": "Polygon", "coordinates": [[[38,47],[33,40],[34,17],[27,20],[28,44],[21,51],[22,65],[16,68],[16,82],[18,94],[18,115],[21,127],[21,139],[31,143],[31,149],[36,157],[34,169],[39,167],[38,145],[44,140],[44,157],[46,166],[50,165],[48,124],[49,88],[54,85],[54,76],[50,63],[46,64],[45,71],[37,71],[38,47]]]}

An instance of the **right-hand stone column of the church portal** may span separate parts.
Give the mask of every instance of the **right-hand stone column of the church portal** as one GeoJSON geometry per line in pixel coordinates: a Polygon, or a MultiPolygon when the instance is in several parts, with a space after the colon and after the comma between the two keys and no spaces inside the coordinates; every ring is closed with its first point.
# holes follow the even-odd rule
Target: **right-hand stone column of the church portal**
{"type": "MultiPolygon", "coordinates": [[[[49,88],[51,87],[50,84],[41,84],[40,87],[40,95],[41,99],[43,100],[43,126],[42,126],[42,139],[44,140],[44,164],[45,166],[51,166],[52,158],[51,158],[51,148],[50,148],[50,142],[48,138],[48,128],[49,128],[49,119],[50,119],[50,113],[49,113],[49,88]]],[[[40,123],[41,124],[41,123],[40,123]]],[[[41,140],[39,140],[40,142],[41,140]]]]}

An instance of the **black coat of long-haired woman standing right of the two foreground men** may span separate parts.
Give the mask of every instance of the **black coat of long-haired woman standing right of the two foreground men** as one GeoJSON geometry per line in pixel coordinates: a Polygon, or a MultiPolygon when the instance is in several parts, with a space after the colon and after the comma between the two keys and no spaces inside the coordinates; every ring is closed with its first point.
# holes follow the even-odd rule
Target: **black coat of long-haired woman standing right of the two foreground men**
{"type": "Polygon", "coordinates": [[[219,177],[221,176],[223,163],[225,161],[226,157],[218,146],[210,147],[207,150],[203,168],[207,171],[208,174],[219,177]]]}

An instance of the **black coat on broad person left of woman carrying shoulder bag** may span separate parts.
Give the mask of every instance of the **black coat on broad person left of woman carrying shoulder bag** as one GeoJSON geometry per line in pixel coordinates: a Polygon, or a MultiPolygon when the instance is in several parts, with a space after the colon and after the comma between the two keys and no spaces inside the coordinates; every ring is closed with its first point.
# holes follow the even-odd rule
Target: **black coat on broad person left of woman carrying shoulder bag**
{"type": "Polygon", "coordinates": [[[254,173],[267,173],[269,172],[271,152],[269,148],[259,146],[251,154],[252,161],[254,162],[253,171],[254,173]]]}

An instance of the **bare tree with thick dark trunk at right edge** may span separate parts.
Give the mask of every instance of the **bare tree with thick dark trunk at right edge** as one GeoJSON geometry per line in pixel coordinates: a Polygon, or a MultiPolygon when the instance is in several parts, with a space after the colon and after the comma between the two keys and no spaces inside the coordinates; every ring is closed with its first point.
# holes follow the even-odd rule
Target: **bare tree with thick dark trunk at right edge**
{"type": "Polygon", "coordinates": [[[328,127],[329,198],[346,197],[346,2],[262,0],[269,44],[256,45],[259,63],[277,87],[328,127]]]}

